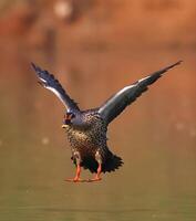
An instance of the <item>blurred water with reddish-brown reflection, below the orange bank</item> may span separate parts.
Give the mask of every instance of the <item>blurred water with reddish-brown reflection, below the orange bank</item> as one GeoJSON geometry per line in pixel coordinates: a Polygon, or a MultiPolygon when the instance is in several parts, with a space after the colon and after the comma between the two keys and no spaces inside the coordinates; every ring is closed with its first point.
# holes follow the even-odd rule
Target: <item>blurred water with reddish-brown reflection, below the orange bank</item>
{"type": "Polygon", "coordinates": [[[1,54],[0,220],[196,219],[193,52],[65,52],[53,63],[43,52],[14,53],[1,54]],[[124,166],[100,183],[64,182],[74,168],[61,129],[63,108],[39,87],[30,61],[51,70],[89,108],[182,57],[182,66],[111,125],[110,147],[124,166]]]}

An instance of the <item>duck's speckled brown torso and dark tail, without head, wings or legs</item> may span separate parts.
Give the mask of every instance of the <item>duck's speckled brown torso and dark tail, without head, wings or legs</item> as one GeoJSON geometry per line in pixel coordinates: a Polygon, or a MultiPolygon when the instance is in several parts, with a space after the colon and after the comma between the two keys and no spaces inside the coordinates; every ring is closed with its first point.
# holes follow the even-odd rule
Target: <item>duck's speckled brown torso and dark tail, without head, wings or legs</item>
{"type": "Polygon", "coordinates": [[[64,125],[68,139],[71,145],[71,159],[76,165],[81,158],[81,166],[91,172],[96,172],[99,162],[95,156],[101,156],[102,172],[117,169],[123,162],[122,159],[111,152],[106,144],[107,127],[95,109],[81,113],[85,126],[64,125]]]}

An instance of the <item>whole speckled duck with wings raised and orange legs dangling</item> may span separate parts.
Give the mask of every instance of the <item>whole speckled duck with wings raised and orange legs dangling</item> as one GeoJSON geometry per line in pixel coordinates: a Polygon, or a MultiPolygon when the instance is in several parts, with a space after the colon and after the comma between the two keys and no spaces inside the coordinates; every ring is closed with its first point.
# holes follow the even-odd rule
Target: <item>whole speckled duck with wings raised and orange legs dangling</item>
{"type": "Polygon", "coordinates": [[[122,166],[122,159],[113,155],[107,147],[107,126],[130,104],[147,91],[151,84],[179,63],[169,65],[124,87],[99,108],[89,110],[81,110],[52,74],[32,64],[40,78],[39,83],[52,91],[66,107],[63,128],[65,128],[71,145],[71,158],[76,166],[76,175],[74,179],[69,179],[69,181],[81,181],[81,167],[91,172],[96,172],[95,178],[89,180],[95,181],[101,179],[101,172],[114,171],[122,166]]]}

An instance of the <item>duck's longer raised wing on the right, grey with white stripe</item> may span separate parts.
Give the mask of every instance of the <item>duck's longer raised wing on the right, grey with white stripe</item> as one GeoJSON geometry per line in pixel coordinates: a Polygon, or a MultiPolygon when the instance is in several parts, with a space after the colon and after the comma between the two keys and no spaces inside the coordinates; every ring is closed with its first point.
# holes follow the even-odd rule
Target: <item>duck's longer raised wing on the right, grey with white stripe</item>
{"type": "Polygon", "coordinates": [[[135,82],[134,84],[122,88],[120,92],[109,98],[100,108],[99,113],[106,124],[110,124],[117,115],[120,115],[126,106],[132,104],[143,92],[146,92],[148,85],[156,82],[169,69],[180,64],[182,61],[159,70],[148,76],[135,82]]]}

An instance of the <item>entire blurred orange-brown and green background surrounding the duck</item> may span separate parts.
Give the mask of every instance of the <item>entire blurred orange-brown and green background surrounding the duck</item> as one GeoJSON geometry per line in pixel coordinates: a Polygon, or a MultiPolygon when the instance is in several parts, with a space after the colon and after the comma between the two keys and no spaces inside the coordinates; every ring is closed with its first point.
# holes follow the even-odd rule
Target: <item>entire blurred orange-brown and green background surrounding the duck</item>
{"type": "Polygon", "coordinates": [[[2,220],[196,219],[195,19],[185,0],[0,0],[2,220]],[[64,183],[64,109],[30,62],[91,108],[178,60],[111,125],[123,168],[100,185],[64,183]]]}

